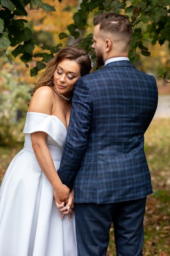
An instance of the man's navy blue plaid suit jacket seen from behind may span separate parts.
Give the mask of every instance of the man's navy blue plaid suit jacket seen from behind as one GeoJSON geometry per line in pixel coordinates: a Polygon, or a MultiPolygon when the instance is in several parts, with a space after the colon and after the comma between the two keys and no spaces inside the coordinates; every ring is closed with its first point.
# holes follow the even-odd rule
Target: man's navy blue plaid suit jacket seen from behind
{"type": "Polygon", "coordinates": [[[144,133],[157,108],[153,76],[115,61],[77,80],[59,177],[75,203],[114,203],[152,193],[144,133]]]}

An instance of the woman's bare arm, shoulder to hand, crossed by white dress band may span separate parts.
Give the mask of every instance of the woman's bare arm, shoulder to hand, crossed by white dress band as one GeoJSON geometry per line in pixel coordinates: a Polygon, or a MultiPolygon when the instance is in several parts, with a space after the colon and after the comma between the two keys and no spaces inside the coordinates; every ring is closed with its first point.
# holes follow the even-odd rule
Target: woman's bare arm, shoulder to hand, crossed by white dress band
{"type": "MultiPolygon", "coordinates": [[[[47,86],[40,87],[31,99],[28,112],[46,113],[50,115],[52,107],[53,93],[51,89],[47,86]]],[[[37,131],[31,134],[32,148],[40,168],[53,186],[55,200],[61,204],[62,201],[65,201],[65,196],[67,198],[66,202],[68,201],[69,189],[62,184],[57,174],[50,151],[46,145],[46,139],[47,134],[45,132],[37,131]]]]}

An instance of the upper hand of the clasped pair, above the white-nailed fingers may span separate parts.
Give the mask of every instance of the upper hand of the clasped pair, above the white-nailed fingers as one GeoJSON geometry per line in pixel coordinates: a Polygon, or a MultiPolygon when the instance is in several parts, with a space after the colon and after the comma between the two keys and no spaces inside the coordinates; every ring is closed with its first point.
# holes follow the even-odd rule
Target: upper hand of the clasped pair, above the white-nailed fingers
{"type": "Polygon", "coordinates": [[[57,204],[62,204],[62,202],[65,202],[65,204],[68,203],[70,189],[67,186],[61,184],[57,187],[54,187],[53,193],[55,202],[57,202],[57,204]]]}

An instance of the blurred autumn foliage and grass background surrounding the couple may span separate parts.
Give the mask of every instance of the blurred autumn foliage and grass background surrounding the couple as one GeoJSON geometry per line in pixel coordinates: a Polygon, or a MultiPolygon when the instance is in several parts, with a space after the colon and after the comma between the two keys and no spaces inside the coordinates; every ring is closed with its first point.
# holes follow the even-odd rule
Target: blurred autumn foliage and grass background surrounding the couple
{"type": "MultiPolygon", "coordinates": [[[[16,4],[16,0],[11,2],[16,4]]],[[[30,30],[31,36],[27,38],[28,40],[20,41],[12,35],[12,33],[17,35],[16,31],[8,30],[9,24],[5,20],[4,31],[9,33],[8,39],[13,40],[13,46],[8,46],[7,50],[0,47],[2,48],[0,50],[0,182],[11,159],[23,147],[22,131],[27,104],[31,98],[31,90],[41,76],[46,63],[65,45],[85,47],[95,63],[95,55],[91,50],[95,13],[113,11],[125,14],[126,4],[126,15],[131,18],[134,35],[130,59],[137,69],[155,76],[159,95],[170,99],[170,84],[167,83],[170,81],[169,1],[45,0],[43,2],[54,6],[56,12],[47,12],[40,8],[41,6],[39,8],[32,6],[30,10],[29,4],[26,3],[31,1],[20,2],[23,2],[23,6],[26,5],[27,16],[22,16],[20,13],[13,15],[15,10],[10,10],[8,15],[13,15],[11,20],[25,19],[26,22],[22,21],[24,27],[20,28],[20,31],[27,28],[26,32],[30,30]],[[159,3],[162,6],[159,6],[159,3]],[[147,9],[149,6],[152,8],[147,9]]],[[[37,0],[36,3],[40,2],[37,0]]],[[[5,19],[4,5],[6,1],[0,0],[1,20],[5,19]]],[[[0,40],[6,36],[3,33],[0,35],[0,40]]],[[[164,111],[168,109],[165,108],[164,111]]],[[[170,117],[168,116],[167,113],[167,118],[159,116],[153,119],[145,134],[145,152],[154,193],[147,200],[144,219],[144,256],[170,255],[170,117]]],[[[113,227],[111,227],[108,256],[116,256],[113,227]]]]}

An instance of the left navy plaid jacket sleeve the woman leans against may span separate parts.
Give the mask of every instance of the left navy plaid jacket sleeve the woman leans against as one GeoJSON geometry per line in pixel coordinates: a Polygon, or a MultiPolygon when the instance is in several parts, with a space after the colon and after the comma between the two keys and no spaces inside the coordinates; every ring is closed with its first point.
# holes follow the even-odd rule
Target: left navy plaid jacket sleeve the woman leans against
{"type": "Polygon", "coordinates": [[[91,91],[85,78],[80,77],[74,89],[68,133],[58,170],[62,183],[70,189],[88,143],[92,113],[91,91]]]}

